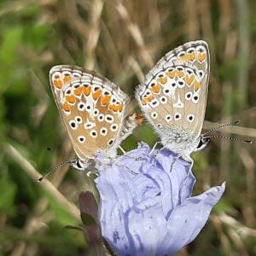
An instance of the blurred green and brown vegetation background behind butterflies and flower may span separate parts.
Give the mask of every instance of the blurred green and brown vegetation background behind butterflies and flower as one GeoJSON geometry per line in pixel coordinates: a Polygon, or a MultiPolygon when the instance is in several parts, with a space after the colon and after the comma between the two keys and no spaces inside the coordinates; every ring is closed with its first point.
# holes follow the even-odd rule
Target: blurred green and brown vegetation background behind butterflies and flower
{"type": "MultiPolygon", "coordinates": [[[[227,189],[201,235],[178,255],[256,255],[255,11],[253,0],[2,0],[0,255],[88,255],[82,232],[65,226],[81,224],[79,192],[93,184],[82,173],[67,172],[69,166],[50,183],[36,183],[40,173],[67,160],[61,150],[70,147],[49,68],[94,69],[132,97],[162,55],[195,39],[207,41],[212,58],[204,128],[241,119],[222,135],[254,144],[216,139],[194,155],[194,193],[224,180],[227,189]]],[[[123,147],[141,140],[152,146],[158,138],[144,124],[123,147]]]]}

